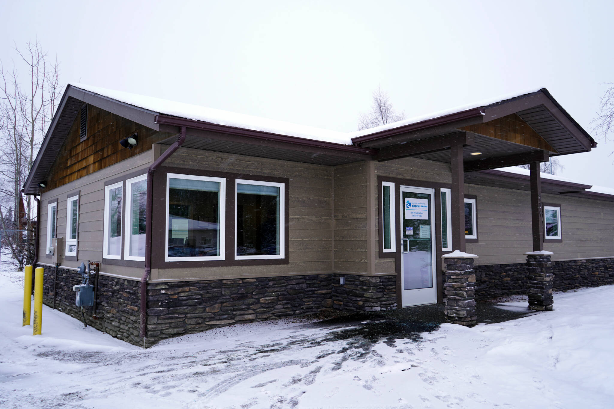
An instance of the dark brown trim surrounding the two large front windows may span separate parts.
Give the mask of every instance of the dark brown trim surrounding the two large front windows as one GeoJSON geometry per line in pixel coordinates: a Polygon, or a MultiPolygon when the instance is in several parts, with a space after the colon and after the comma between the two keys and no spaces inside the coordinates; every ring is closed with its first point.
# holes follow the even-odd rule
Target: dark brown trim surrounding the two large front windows
{"type": "Polygon", "coordinates": [[[266,177],[261,175],[235,174],[228,172],[215,172],[211,170],[185,169],[178,167],[161,166],[153,175],[153,202],[152,211],[152,268],[172,269],[190,267],[224,267],[224,266],[273,266],[289,263],[289,179],[266,177]],[[184,174],[197,176],[210,176],[225,178],[226,182],[226,226],[225,226],[225,252],[223,260],[215,261],[165,261],[165,226],[166,226],[166,174],[184,174]],[[249,179],[262,182],[284,183],[284,258],[282,259],[256,259],[235,260],[235,180],[249,179]]]}

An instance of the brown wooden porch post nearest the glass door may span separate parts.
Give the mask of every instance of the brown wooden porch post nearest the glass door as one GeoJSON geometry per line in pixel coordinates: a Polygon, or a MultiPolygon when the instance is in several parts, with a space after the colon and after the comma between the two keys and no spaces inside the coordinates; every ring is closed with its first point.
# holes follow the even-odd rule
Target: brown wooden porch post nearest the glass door
{"type": "Polygon", "coordinates": [[[452,210],[452,248],[465,252],[465,172],[462,145],[450,147],[452,188],[450,192],[452,210]]]}

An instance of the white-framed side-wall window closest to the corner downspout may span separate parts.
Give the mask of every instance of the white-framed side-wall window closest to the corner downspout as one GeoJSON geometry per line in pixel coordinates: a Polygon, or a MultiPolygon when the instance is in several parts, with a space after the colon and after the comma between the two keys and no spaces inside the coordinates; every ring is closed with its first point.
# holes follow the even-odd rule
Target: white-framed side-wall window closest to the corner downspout
{"type": "Polygon", "coordinates": [[[126,180],[126,223],[123,258],[145,261],[147,174],[126,180]]]}

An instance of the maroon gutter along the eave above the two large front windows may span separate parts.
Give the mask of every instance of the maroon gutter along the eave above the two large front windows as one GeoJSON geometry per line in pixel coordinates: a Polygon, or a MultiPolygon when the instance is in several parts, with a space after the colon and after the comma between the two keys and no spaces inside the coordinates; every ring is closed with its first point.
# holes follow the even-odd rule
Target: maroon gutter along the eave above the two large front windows
{"type": "Polygon", "coordinates": [[[359,155],[375,156],[378,153],[376,149],[372,148],[360,148],[351,145],[343,145],[341,143],[323,142],[320,140],[306,139],[296,136],[274,134],[272,132],[255,131],[254,129],[236,128],[235,126],[188,120],[185,118],[171,117],[169,115],[156,115],[155,122],[158,124],[185,126],[186,128],[201,129],[203,131],[220,132],[222,134],[245,136],[274,142],[292,143],[293,145],[302,145],[304,147],[324,148],[327,150],[343,151],[346,153],[354,153],[359,155]]]}

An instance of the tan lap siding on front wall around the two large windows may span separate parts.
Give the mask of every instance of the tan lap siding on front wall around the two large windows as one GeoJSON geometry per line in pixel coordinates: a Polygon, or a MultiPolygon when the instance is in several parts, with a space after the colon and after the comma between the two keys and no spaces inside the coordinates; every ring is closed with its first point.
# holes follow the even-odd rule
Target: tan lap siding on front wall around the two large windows
{"type": "MultiPolygon", "coordinates": [[[[163,147],[163,150],[166,147],[163,147]]],[[[332,272],[332,170],[328,166],[181,148],[168,167],[289,179],[289,264],[158,269],[157,280],[177,278],[273,277],[332,272]]]]}

